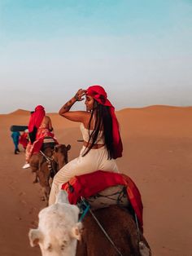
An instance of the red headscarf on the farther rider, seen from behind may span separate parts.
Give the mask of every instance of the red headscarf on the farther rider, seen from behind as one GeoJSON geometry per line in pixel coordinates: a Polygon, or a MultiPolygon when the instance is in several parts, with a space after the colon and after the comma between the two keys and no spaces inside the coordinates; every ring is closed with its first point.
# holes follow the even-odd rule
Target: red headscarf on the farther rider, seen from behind
{"type": "Polygon", "coordinates": [[[34,127],[37,129],[39,126],[41,126],[41,122],[43,120],[43,117],[45,117],[46,112],[43,106],[38,105],[35,108],[35,112],[31,114],[30,120],[28,122],[28,132],[32,132],[34,127]]]}

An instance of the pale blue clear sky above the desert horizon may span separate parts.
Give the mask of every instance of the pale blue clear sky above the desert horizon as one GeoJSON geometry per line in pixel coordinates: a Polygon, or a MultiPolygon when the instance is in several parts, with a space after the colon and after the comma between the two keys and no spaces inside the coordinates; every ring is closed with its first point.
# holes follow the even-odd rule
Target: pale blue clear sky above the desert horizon
{"type": "Polygon", "coordinates": [[[192,0],[0,0],[0,113],[94,84],[117,110],[192,105],[192,0]]]}

